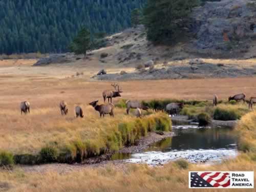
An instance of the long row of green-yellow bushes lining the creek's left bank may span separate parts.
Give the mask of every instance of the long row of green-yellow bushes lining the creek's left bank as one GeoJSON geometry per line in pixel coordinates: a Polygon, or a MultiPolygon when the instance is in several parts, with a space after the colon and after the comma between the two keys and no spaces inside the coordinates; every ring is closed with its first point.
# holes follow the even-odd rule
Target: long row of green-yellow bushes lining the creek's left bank
{"type": "Polygon", "coordinates": [[[81,163],[92,157],[102,154],[113,154],[119,148],[134,145],[137,140],[147,135],[148,132],[172,131],[172,122],[168,115],[155,113],[143,118],[125,120],[115,125],[112,132],[101,132],[96,139],[86,141],[76,140],[72,143],[61,145],[48,144],[41,148],[38,154],[12,154],[0,151],[0,166],[13,164],[43,164],[43,163],[81,163]]]}

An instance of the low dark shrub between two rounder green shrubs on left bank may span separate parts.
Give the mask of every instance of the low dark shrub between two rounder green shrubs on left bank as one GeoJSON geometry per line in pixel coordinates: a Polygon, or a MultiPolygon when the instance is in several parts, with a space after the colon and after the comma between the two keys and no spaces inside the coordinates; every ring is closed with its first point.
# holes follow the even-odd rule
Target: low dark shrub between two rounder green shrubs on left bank
{"type": "Polygon", "coordinates": [[[40,163],[39,155],[21,154],[21,155],[14,155],[13,158],[16,164],[35,165],[40,163]]]}

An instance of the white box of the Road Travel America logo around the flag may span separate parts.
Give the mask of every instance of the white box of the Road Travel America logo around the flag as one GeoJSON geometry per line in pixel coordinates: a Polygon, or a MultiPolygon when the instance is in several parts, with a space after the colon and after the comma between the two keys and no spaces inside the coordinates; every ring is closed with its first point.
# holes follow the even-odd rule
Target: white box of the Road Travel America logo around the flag
{"type": "Polygon", "coordinates": [[[191,183],[191,173],[229,173],[230,176],[230,185],[225,188],[254,188],[254,172],[218,172],[218,171],[193,171],[188,173],[188,187],[189,188],[215,188],[215,189],[224,189],[224,187],[190,187],[191,183]]]}

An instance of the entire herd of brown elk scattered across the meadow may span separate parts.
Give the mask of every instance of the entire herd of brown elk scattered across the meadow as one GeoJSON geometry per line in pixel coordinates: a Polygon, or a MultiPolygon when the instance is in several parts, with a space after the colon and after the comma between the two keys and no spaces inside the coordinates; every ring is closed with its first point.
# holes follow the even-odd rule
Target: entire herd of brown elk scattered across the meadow
{"type": "MultiPolygon", "coordinates": [[[[95,109],[95,111],[99,112],[100,117],[102,117],[102,116],[104,117],[105,115],[108,115],[108,114],[110,116],[114,117],[115,105],[112,103],[112,98],[121,97],[120,93],[122,93],[122,90],[120,89],[118,83],[112,83],[111,86],[115,88],[115,91],[105,90],[102,92],[104,104],[98,104],[99,100],[95,100],[95,101],[92,101],[89,103],[89,105],[91,105],[95,109]],[[105,103],[106,99],[108,99],[108,103],[105,103]]],[[[250,109],[253,110],[252,105],[254,103],[256,103],[256,97],[251,97],[250,100],[248,100],[248,101],[245,99],[245,97],[246,97],[245,94],[241,93],[241,94],[237,94],[237,95],[228,97],[228,101],[235,100],[238,102],[238,101],[243,100],[244,103],[245,102],[249,103],[249,110],[250,109]]],[[[213,105],[217,106],[218,96],[214,95],[212,101],[213,101],[213,105]]],[[[127,100],[125,104],[126,104],[127,115],[129,115],[129,112],[131,109],[136,109],[136,111],[135,111],[136,117],[141,117],[141,115],[142,115],[141,110],[147,111],[149,109],[147,106],[144,106],[142,104],[142,102],[137,101],[137,100],[127,100]]],[[[183,106],[184,106],[184,103],[169,103],[166,105],[165,111],[169,115],[175,116],[175,115],[179,114],[179,112],[183,108],[183,106]]],[[[69,111],[68,105],[65,101],[61,101],[59,103],[59,109],[60,109],[61,115],[68,114],[68,111],[69,111]]],[[[21,111],[21,114],[30,113],[30,103],[28,101],[21,102],[20,103],[20,111],[21,111]]],[[[76,118],[84,117],[83,110],[82,110],[81,106],[75,107],[75,114],[76,114],[76,118]]]]}

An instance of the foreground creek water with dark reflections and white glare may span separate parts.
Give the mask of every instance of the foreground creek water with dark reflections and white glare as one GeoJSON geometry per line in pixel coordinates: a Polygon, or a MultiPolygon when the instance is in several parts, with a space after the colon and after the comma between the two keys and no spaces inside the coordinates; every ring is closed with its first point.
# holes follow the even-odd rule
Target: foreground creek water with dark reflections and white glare
{"type": "Polygon", "coordinates": [[[117,153],[112,159],[161,165],[181,158],[191,163],[212,163],[237,156],[237,136],[229,127],[173,125],[173,132],[174,137],[154,143],[142,153],[117,153]]]}

